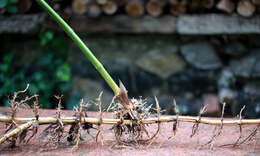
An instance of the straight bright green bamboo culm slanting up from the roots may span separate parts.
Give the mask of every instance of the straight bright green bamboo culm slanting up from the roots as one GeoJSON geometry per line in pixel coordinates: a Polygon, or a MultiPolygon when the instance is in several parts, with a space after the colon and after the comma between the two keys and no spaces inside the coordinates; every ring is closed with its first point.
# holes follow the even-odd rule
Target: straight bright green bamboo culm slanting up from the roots
{"type": "Polygon", "coordinates": [[[79,36],[73,31],[73,29],[53,10],[44,0],[36,0],[41,7],[43,7],[49,15],[51,15],[56,22],[62,27],[62,29],[71,37],[71,39],[79,46],[82,52],[87,56],[89,61],[95,66],[98,72],[106,80],[107,84],[111,87],[115,95],[118,95],[120,88],[115,83],[115,81],[108,74],[103,65],[98,61],[98,59],[93,55],[89,48],[84,44],[84,42],[79,38],[79,36]]]}

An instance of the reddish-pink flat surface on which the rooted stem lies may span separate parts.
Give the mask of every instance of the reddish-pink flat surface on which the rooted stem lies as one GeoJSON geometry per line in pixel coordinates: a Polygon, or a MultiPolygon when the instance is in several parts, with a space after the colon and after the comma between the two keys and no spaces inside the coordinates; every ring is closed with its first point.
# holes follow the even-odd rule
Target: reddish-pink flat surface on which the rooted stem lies
{"type": "MultiPolygon", "coordinates": [[[[8,112],[7,108],[0,108],[0,114],[6,114],[8,112]]],[[[40,110],[40,116],[54,116],[55,110],[40,110]]],[[[64,111],[64,115],[72,116],[72,111],[64,111]]],[[[98,116],[98,113],[89,112],[90,117],[98,116]]],[[[18,113],[19,117],[31,117],[33,112],[30,109],[20,110],[18,113]]],[[[105,114],[105,117],[112,117],[111,114],[105,114]]],[[[238,126],[225,126],[223,133],[217,137],[214,142],[213,149],[209,149],[209,146],[201,147],[201,145],[207,143],[214,132],[214,126],[209,125],[199,125],[199,132],[194,137],[190,138],[192,123],[180,123],[177,134],[174,136],[172,132],[172,123],[162,124],[162,131],[159,138],[150,146],[146,147],[145,145],[139,145],[137,148],[125,147],[120,149],[111,148],[115,143],[114,135],[111,130],[111,126],[103,126],[103,135],[104,135],[104,145],[102,146],[100,141],[95,142],[90,135],[84,132],[84,140],[80,142],[79,148],[77,150],[72,150],[72,145],[68,145],[64,142],[57,149],[50,149],[44,146],[44,142],[38,139],[39,134],[44,129],[44,126],[41,126],[38,135],[31,140],[28,144],[22,144],[14,149],[7,148],[7,144],[0,145],[0,155],[44,155],[44,156],[55,156],[55,155],[260,155],[260,144],[257,143],[257,139],[239,147],[225,146],[220,147],[224,144],[231,144],[236,141],[239,137],[239,127],[238,126]],[[172,137],[170,140],[167,138],[172,137]],[[161,145],[161,147],[160,147],[161,145]]],[[[255,128],[255,125],[243,126],[243,136],[247,136],[255,128]]],[[[150,125],[149,131],[155,132],[157,125],[150,125]]],[[[5,124],[0,123],[0,136],[4,135],[5,124]]],[[[93,136],[95,136],[96,130],[91,130],[93,136]]],[[[259,134],[257,134],[259,138],[259,134]]]]}

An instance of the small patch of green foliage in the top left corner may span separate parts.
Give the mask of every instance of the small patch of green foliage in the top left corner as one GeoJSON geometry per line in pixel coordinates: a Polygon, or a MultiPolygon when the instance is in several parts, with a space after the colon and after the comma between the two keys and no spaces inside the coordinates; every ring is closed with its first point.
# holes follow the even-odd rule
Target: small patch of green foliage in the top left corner
{"type": "Polygon", "coordinates": [[[17,13],[17,2],[18,0],[0,0],[0,9],[3,9],[11,14],[17,13]]]}

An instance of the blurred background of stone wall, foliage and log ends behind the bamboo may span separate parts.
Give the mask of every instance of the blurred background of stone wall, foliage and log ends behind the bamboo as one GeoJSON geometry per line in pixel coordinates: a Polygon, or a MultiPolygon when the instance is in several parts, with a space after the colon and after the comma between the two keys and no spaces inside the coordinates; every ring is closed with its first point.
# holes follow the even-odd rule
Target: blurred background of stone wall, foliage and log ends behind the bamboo
{"type": "MultiPolygon", "coordinates": [[[[260,116],[260,0],[47,0],[129,96],[173,98],[183,115],[260,116]]],[[[34,0],[0,0],[0,106],[30,84],[43,108],[73,109],[112,90],[34,0]]],[[[89,110],[97,110],[90,106],[89,110]]]]}

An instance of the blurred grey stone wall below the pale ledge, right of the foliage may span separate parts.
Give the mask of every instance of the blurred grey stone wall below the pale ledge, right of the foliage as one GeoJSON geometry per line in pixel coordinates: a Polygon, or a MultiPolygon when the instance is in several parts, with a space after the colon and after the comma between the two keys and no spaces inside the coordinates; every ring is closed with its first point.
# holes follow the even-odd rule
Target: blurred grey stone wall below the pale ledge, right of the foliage
{"type": "MultiPolygon", "coordinates": [[[[220,103],[226,102],[228,114],[237,115],[246,105],[245,116],[260,115],[259,36],[81,36],[130,96],[143,96],[147,104],[157,96],[167,113],[174,113],[176,98],[182,114],[196,114],[208,104],[208,113],[218,115],[220,103]]],[[[72,92],[95,98],[95,90],[105,90],[111,98],[109,87],[74,44],[69,55],[72,92]]]]}

